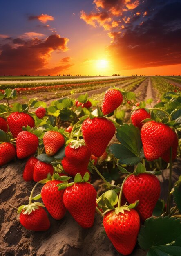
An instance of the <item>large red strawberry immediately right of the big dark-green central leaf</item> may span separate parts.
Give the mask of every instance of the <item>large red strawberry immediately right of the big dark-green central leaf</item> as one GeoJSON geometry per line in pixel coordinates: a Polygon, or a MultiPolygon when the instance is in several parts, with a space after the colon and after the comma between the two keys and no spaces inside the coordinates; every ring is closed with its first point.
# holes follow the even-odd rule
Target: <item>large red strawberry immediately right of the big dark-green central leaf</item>
{"type": "Polygon", "coordinates": [[[141,128],[143,150],[148,161],[161,157],[174,142],[174,132],[162,123],[148,121],[141,128]]]}

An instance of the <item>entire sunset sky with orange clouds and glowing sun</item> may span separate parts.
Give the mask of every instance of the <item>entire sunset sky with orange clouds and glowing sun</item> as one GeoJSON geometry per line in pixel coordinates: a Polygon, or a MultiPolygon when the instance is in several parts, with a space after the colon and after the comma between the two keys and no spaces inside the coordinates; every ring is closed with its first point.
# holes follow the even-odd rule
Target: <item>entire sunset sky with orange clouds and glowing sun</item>
{"type": "Polygon", "coordinates": [[[181,0],[2,0],[0,75],[180,75],[181,0]]]}

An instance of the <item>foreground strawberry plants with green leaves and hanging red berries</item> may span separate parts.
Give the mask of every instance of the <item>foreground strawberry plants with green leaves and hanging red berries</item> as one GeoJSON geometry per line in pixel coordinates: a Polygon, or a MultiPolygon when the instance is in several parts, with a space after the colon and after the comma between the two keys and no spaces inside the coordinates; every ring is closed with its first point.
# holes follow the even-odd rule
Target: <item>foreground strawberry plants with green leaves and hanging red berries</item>
{"type": "Polygon", "coordinates": [[[172,161],[180,145],[179,92],[167,92],[156,106],[147,108],[144,101],[136,103],[133,92],[111,88],[102,108],[94,105],[87,94],[77,101],[56,100],[48,107],[36,99],[29,105],[0,105],[0,165],[16,155],[29,157],[22,177],[37,182],[29,204],[18,209],[20,223],[26,229],[46,231],[50,222],[45,207],[56,220],[69,211],[88,229],[96,212],[119,253],[131,254],[138,242],[147,256],[180,255],[180,178],[172,188],[172,161]],[[128,102],[134,106],[132,123],[129,118],[125,123],[128,102]],[[29,112],[29,107],[35,110],[29,112]],[[160,162],[161,166],[169,162],[167,202],[159,199],[160,162]],[[98,195],[91,184],[96,175],[104,187],[98,195]],[[33,197],[39,184],[44,185],[33,197]],[[40,199],[43,204],[37,202],[40,199]]]}

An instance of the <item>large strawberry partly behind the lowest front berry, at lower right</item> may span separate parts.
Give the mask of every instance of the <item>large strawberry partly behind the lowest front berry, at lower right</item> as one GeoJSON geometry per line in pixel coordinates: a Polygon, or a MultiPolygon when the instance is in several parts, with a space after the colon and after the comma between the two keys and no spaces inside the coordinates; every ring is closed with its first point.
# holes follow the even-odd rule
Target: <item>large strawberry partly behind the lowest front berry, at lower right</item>
{"type": "Polygon", "coordinates": [[[152,216],[160,195],[160,182],[156,176],[147,173],[130,175],[123,185],[123,193],[131,204],[139,200],[136,207],[142,221],[152,216]]]}

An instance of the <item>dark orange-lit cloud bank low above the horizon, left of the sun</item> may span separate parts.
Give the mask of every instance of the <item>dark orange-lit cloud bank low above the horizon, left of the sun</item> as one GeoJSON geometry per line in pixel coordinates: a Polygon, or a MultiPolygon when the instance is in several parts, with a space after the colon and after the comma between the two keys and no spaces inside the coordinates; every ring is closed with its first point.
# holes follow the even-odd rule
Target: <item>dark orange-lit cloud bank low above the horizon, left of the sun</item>
{"type": "MultiPolygon", "coordinates": [[[[46,39],[22,39],[15,38],[9,44],[0,46],[0,75],[19,75],[19,74],[41,74],[47,72],[56,72],[61,68],[65,69],[72,64],[58,65],[52,69],[47,69],[51,53],[54,51],[65,52],[68,50],[68,38],[62,38],[58,34],[52,34],[46,39]]],[[[65,61],[64,61],[65,62],[65,61]]]]}

